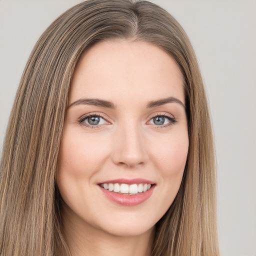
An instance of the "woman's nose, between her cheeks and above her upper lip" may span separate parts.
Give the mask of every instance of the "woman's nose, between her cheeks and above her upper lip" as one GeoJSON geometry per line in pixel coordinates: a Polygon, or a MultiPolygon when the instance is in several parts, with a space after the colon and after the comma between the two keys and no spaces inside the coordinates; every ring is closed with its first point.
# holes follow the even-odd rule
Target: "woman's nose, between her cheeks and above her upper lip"
{"type": "Polygon", "coordinates": [[[146,163],[148,155],[145,139],[138,125],[119,127],[113,135],[112,161],[124,167],[136,167],[146,163]]]}

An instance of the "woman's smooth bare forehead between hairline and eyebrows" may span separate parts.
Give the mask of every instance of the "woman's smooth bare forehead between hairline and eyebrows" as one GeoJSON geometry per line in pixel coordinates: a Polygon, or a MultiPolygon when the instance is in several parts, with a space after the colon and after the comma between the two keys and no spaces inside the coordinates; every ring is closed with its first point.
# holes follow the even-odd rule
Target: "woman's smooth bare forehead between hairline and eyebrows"
{"type": "Polygon", "coordinates": [[[183,79],[173,58],[148,42],[112,40],[96,43],[81,55],[69,101],[118,97],[143,102],[166,96],[184,103],[183,79]]]}

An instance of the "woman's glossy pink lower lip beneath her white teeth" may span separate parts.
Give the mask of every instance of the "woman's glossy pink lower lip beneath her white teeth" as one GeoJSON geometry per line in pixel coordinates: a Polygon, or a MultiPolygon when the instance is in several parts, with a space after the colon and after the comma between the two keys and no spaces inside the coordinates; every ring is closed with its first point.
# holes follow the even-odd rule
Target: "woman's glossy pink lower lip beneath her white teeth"
{"type": "Polygon", "coordinates": [[[146,199],[150,197],[150,195],[153,192],[155,185],[151,186],[148,190],[145,192],[137,193],[137,194],[118,194],[113,191],[109,191],[104,189],[103,187],[100,187],[104,195],[110,199],[111,201],[118,203],[120,205],[124,206],[134,206],[142,203],[146,199]]]}

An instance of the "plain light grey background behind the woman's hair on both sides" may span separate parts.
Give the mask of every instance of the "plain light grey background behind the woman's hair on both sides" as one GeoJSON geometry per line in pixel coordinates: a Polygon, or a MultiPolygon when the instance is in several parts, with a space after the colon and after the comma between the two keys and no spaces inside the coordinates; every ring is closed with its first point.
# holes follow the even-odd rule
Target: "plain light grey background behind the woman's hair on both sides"
{"type": "MultiPolygon", "coordinates": [[[[34,43],[78,2],[0,0],[0,145],[34,43]]],[[[221,255],[256,256],[256,1],[152,2],[186,30],[205,81],[216,143],[221,255]]]]}

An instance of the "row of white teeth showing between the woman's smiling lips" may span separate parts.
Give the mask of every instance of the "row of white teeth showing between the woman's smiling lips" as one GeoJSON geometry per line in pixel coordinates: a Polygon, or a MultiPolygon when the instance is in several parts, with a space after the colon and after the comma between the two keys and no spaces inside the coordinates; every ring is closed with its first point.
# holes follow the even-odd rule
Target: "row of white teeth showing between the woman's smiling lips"
{"type": "Polygon", "coordinates": [[[109,191],[120,192],[123,194],[136,194],[145,192],[151,187],[151,184],[139,183],[128,185],[125,183],[101,183],[100,186],[109,191]]]}

